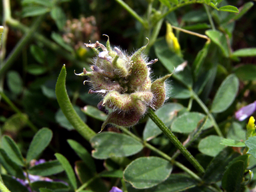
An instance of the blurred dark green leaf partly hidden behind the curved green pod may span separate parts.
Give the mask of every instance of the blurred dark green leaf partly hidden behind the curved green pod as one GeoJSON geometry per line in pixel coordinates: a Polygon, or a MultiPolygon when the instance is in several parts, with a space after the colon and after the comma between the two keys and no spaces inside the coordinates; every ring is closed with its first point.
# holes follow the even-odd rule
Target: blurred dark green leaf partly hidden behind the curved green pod
{"type": "MultiPolygon", "coordinates": [[[[79,115],[79,117],[82,119],[83,122],[86,121],[86,117],[84,116],[84,113],[81,111],[81,109],[78,106],[73,106],[75,109],[76,113],[79,115]]],[[[68,119],[66,116],[63,114],[62,110],[59,109],[56,114],[55,114],[55,119],[57,123],[60,124],[60,126],[66,128],[67,130],[74,130],[74,127],[72,124],[69,123],[68,119]]]]}

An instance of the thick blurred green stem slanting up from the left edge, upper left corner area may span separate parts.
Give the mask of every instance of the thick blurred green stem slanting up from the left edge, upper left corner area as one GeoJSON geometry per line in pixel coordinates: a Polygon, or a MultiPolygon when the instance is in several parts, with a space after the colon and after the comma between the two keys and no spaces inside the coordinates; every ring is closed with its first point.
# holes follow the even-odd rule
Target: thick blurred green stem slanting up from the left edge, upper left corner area
{"type": "Polygon", "coordinates": [[[22,49],[25,48],[26,44],[31,40],[31,36],[37,28],[41,25],[41,22],[43,21],[45,15],[41,15],[33,22],[32,27],[26,33],[18,42],[18,44],[15,46],[15,48],[12,50],[12,52],[8,55],[7,59],[4,61],[3,65],[0,69],[0,76],[4,75],[4,73],[11,67],[14,60],[18,57],[19,53],[22,51],[22,49]]]}

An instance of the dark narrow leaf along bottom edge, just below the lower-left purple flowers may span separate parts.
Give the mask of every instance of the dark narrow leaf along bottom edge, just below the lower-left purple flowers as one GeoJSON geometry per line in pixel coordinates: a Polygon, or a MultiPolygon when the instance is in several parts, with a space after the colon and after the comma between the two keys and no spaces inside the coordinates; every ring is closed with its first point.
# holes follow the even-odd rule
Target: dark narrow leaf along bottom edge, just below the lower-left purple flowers
{"type": "MultiPolygon", "coordinates": [[[[47,188],[47,189],[61,191],[62,189],[68,189],[68,186],[62,182],[56,182],[56,181],[52,181],[52,182],[35,181],[35,182],[31,183],[31,188],[35,191],[39,191],[39,188],[47,188]]],[[[62,191],[64,191],[64,190],[62,190],[62,191]]]]}

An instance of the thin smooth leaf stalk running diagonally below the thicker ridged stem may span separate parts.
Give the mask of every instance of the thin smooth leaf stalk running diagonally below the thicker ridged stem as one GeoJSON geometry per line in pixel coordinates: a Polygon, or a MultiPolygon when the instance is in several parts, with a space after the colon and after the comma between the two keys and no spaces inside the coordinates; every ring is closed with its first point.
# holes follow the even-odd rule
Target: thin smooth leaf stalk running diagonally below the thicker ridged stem
{"type": "Polygon", "coordinates": [[[130,135],[132,138],[140,141],[141,143],[143,143],[143,145],[149,149],[151,149],[152,151],[155,151],[158,155],[164,157],[166,160],[172,162],[174,165],[176,165],[177,167],[179,167],[180,169],[182,169],[183,171],[187,172],[190,176],[192,176],[193,178],[195,178],[198,181],[202,181],[200,177],[198,177],[194,172],[192,172],[190,169],[188,169],[187,167],[185,167],[183,164],[175,161],[172,159],[172,157],[168,156],[167,154],[165,154],[164,152],[162,152],[161,150],[155,148],[154,146],[150,145],[149,143],[147,143],[146,141],[143,141],[142,139],[140,139],[139,137],[137,137],[136,135],[134,135],[133,133],[131,133],[130,131],[128,131],[126,128],[122,128],[122,131],[124,133],[126,133],[127,135],[130,135]]]}

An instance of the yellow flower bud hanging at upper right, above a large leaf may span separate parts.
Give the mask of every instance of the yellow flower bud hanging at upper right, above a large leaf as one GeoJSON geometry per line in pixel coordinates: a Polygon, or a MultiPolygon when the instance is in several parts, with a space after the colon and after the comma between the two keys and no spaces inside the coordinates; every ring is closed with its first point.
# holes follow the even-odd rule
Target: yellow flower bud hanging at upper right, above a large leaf
{"type": "Polygon", "coordinates": [[[167,22],[166,22],[166,35],[165,35],[165,39],[166,39],[166,42],[168,44],[168,47],[173,52],[175,52],[176,54],[181,56],[179,41],[178,41],[177,37],[175,37],[174,33],[172,32],[171,24],[167,23],[167,22]]]}

